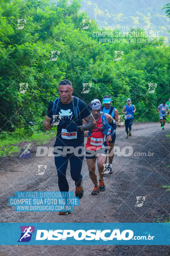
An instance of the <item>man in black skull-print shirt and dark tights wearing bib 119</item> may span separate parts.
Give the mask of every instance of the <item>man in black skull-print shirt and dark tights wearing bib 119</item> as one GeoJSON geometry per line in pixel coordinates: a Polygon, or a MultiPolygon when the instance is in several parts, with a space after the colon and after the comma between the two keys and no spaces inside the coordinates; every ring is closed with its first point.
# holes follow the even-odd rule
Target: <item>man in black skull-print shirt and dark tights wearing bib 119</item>
{"type": "MultiPolygon", "coordinates": [[[[52,125],[58,125],[54,144],[54,158],[59,190],[61,192],[68,192],[69,190],[66,178],[69,160],[71,177],[76,186],[75,193],[81,199],[84,195],[81,174],[82,160],[84,158],[84,152],[81,152],[84,149],[83,131],[96,128],[96,122],[85,102],[72,96],[73,90],[71,81],[66,79],[60,81],[59,98],[49,104],[43,127],[47,131],[51,130],[52,125]],[[82,119],[87,122],[85,125],[82,125],[82,119]],[[80,147],[77,152],[78,155],[74,154],[77,147],[80,147]]],[[[68,215],[68,213],[71,212],[59,212],[59,215],[68,215]]]]}

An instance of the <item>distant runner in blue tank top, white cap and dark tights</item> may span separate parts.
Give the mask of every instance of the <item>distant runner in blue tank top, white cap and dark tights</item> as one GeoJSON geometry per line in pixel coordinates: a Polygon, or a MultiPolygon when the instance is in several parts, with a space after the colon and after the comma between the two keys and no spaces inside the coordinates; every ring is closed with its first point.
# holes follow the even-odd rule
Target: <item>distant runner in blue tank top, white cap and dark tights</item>
{"type": "Polygon", "coordinates": [[[131,99],[127,99],[127,104],[123,106],[122,113],[125,114],[125,131],[127,133],[127,139],[129,136],[131,137],[131,129],[133,124],[133,113],[135,113],[136,108],[135,105],[131,104],[131,99]]]}

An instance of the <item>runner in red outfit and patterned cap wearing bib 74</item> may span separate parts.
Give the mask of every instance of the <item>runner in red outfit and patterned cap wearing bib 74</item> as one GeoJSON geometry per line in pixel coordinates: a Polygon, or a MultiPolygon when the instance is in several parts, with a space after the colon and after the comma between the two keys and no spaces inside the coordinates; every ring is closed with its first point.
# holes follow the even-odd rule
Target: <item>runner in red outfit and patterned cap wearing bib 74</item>
{"type": "Polygon", "coordinates": [[[113,134],[116,132],[116,121],[109,114],[101,112],[101,103],[99,99],[93,99],[91,101],[91,109],[97,126],[92,131],[85,132],[85,134],[88,135],[87,143],[85,145],[85,157],[88,164],[89,175],[94,183],[94,190],[91,194],[98,195],[99,192],[106,190],[105,182],[103,180],[103,171],[108,154],[108,143],[109,141],[112,141],[113,134]],[[110,134],[108,134],[110,126],[111,131],[110,134]],[[99,183],[96,175],[96,160],[99,171],[99,183]]]}

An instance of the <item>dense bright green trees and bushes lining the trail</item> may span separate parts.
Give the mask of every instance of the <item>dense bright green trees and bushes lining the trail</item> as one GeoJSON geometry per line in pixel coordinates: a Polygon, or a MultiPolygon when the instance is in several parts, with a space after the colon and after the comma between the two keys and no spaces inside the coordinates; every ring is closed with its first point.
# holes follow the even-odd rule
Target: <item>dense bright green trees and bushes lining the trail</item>
{"type": "Polygon", "coordinates": [[[158,120],[156,108],[170,95],[170,49],[163,38],[150,44],[102,44],[93,37],[99,31],[94,20],[81,29],[82,19],[89,17],[79,9],[79,0],[70,5],[67,0],[0,2],[1,133],[19,132],[27,140],[43,131],[62,79],[71,80],[74,95],[87,103],[111,94],[120,112],[131,97],[136,121],[158,120]],[[26,19],[23,29],[17,29],[17,19],[26,19]],[[51,61],[55,50],[60,54],[51,61]],[[124,52],[121,61],[114,61],[117,50],[124,52]],[[26,93],[19,93],[20,83],[28,83],[26,93]],[[92,84],[90,93],[81,93],[82,83],[92,84]],[[148,83],[157,83],[155,93],[147,93],[148,83]]]}

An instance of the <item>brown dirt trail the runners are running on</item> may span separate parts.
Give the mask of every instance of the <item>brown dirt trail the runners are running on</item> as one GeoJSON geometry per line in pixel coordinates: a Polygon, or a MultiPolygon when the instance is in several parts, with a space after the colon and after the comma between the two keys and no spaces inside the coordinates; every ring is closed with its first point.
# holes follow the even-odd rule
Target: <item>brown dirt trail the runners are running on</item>
{"type": "MultiPolygon", "coordinates": [[[[14,212],[8,197],[16,191],[59,191],[54,157],[0,159],[0,222],[156,222],[170,216],[170,192],[161,185],[170,184],[170,124],[161,130],[159,123],[133,124],[132,137],[126,139],[125,127],[117,128],[118,155],[113,160],[113,175],[105,176],[107,190],[91,195],[92,182],[86,160],[82,175],[85,195],[79,207],[68,216],[57,212],[14,212]],[[129,157],[119,156],[119,148],[133,148],[129,157]],[[145,153],[152,156],[145,156],[145,153]],[[142,154],[141,154],[142,153],[142,154]],[[37,165],[47,165],[44,175],[37,175],[37,165]],[[144,196],[142,207],[135,207],[136,196],[144,196]]],[[[53,146],[54,140],[48,143],[53,146]]],[[[127,151],[126,151],[127,153],[127,151]]],[[[74,192],[68,166],[68,183],[74,192]]],[[[0,246],[0,256],[74,255],[74,256],[170,256],[169,246],[0,246]],[[27,249],[26,249],[27,248],[27,249]]]]}

